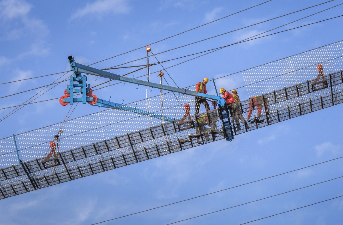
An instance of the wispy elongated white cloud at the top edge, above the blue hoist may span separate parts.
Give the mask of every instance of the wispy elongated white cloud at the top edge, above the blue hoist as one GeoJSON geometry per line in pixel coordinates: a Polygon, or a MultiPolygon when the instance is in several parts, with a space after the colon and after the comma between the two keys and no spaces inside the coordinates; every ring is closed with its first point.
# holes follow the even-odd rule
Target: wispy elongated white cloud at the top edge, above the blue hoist
{"type": "Polygon", "coordinates": [[[104,14],[121,14],[129,11],[126,0],[97,0],[93,3],[87,3],[83,9],[79,9],[71,16],[71,20],[85,15],[96,14],[101,17],[104,14]]]}

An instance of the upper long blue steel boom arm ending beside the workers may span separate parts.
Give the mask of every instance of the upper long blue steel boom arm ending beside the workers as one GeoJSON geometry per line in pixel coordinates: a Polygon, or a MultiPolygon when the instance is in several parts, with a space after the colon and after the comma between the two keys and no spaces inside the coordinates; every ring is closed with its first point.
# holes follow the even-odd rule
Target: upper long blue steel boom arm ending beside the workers
{"type": "Polygon", "coordinates": [[[203,93],[199,93],[199,92],[195,92],[195,91],[190,91],[187,89],[151,83],[151,82],[147,82],[147,81],[128,78],[125,76],[119,76],[119,75],[114,74],[114,73],[110,73],[110,72],[103,71],[103,70],[98,70],[98,69],[95,69],[93,67],[88,67],[88,66],[85,66],[83,64],[76,63],[74,61],[74,57],[72,57],[72,56],[69,56],[68,60],[70,63],[70,69],[74,71],[74,74],[85,73],[85,74],[92,74],[92,75],[96,75],[96,76],[102,76],[104,78],[108,78],[108,79],[112,79],[112,80],[125,81],[125,82],[129,82],[129,83],[133,83],[133,84],[140,84],[143,86],[155,87],[158,89],[177,92],[177,93],[181,93],[181,94],[209,98],[212,100],[216,100],[218,102],[218,104],[222,107],[225,105],[225,100],[223,98],[221,98],[220,96],[208,95],[208,94],[203,94],[203,93]]]}

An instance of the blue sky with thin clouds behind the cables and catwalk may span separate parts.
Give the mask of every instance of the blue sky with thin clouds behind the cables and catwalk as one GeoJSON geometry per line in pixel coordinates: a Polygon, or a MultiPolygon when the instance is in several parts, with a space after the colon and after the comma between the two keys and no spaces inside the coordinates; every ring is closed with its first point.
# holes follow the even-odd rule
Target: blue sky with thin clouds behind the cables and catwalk
{"type": "MultiPolygon", "coordinates": [[[[69,70],[67,57],[91,64],[183,32],[262,1],[97,0],[0,2],[1,83],[69,70]]],[[[317,0],[273,0],[163,42],[151,45],[154,54],[239,27],[322,3],[317,0]]],[[[340,4],[336,0],[306,11],[158,55],[167,60],[237,42],[301,17],[340,4]]],[[[342,14],[343,5],[285,28],[342,14]]],[[[216,51],[168,69],[178,86],[194,85],[343,39],[342,18],[261,38],[216,51]]],[[[283,28],[276,30],[281,31],[283,28]]],[[[146,56],[145,49],[93,65],[102,69],[146,56]]],[[[165,63],[172,66],[183,60],[165,63]]],[[[144,65],[143,59],[129,65],[144,65]]],[[[158,66],[152,71],[160,70],[158,66]]],[[[125,74],[130,69],[118,70],[125,74]]],[[[117,71],[116,71],[117,72],[117,71]]],[[[145,71],[134,73],[134,77],[145,71]]],[[[157,74],[156,74],[157,75],[157,74]]],[[[156,75],[152,82],[158,82],[156,75]]],[[[51,75],[2,84],[1,96],[50,84],[51,75]]],[[[168,82],[172,83],[169,78],[168,82]]],[[[92,86],[106,79],[88,76],[92,86]]],[[[112,82],[111,82],[112,83],[112,82]]],[[[244,84],[239,76],[222,79],[217,87],[244,84]]],[[[37,100],[63,95],[63,83],[37,100]]],[[[208,87],[214,94],[213,87],[208,87]]],[[[38,91],[0,98],[1,108],[20,105],[38,91]]],[[[152,95],[159,92],[153,90],[152,95]]],[[[113,85],[95,93],[99,98],[130,103],[145,98],[145,88],[113,85]]],[[[247,96],[241,96],[245,99],[247,96]]],[[[0,201],[0,224],[92,224],[232,187],[342,156],[342,105],[284,121],[225,140],[107,171],[0,201]]],[[[1,121],[0,137],[63,121],[69,107],[57,100],[25,106],[1,121]]],[[[3,117],[11,110],[0,110],[3,117]]],[[[71,118],[98,111],[80,105],[71,118]]],[[[122,218],[106,224],[167,224],[199,214],[342,176],[342,159],[277,178],[213,194],[197,200],[122,218]]],[[[341,178],[342,179],[342,178],[341,178]]],[[[182,224],[240,224],[343,194],[341,179],[203,216],[182,224]]],[[[338,224],[343,200],[310,206],[254,224],[338,224]]],[[[181,224],[180,223],[180,224],[181,224]]]]}

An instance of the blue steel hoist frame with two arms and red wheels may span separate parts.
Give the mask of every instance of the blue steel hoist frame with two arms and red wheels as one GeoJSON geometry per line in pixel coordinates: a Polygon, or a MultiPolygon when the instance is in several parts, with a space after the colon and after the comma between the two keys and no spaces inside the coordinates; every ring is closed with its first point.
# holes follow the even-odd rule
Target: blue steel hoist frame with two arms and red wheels
{"type": "Polygon", "coordinates": [[[161,120],[165,120],[169,122],[175,120],[175,118],[158,115],[158,114],[148,112],[145,110],[141,110],[141,109],[137,109],[130,106],[126,106],[126,105],[122,105],[122,104],[118,104],[114,102],[109,102],[109,101],[97,98],[95,95],[93,95],[93,91],[90,84],[86,83],[87,81],[86,75],[91,74],[95,76],[101,76],[103,78],[108,78],[111,80],[129,82],[129,83],[139,84],[139,85],[148,86],[148,87],[155,87],[158,89],[167,90],[171,92],[177,92],[183,95],[186,94],[186,95],[198,96],[198,97],[215,100],[217,101],[218,105],[221,107],[220,112],[221,112],[222,120],[225,118],[227,119],[227,121],[223,120],[224,130],[227,130],[224,132],[224,136],[229,141],[231,141],[233,138],[230,121],[227,116],[229,115],[228,110],[227,110],[227,107],[223,108],[225,106],[225,100],[221,98],[220,96],[208,95],[208,94],[199,93],[199,92],[182,89],[178,87],[171,87],[171,86],[167,86],[163,84],[156,84],[152,82],[147,82],[147,81],[142,81],[142,80],[138,80],[134,78],[120,76],[114,73],[95,69],[93,67],[89,67],[89,66],[85,66],[83,64],[77,63],[75,62],[74,57],[72,56],[68,57],[68,61],[70,63],[70,69],[73,71],[74,74],[70,76],[70,83],[69,85],[67,85],[67,89],[64,91],[65,95],[60,97],[60,104],[63,106],[68,105],[68,104],[72,105],[73,103],[76,103],[76,102],[82,102],[82,104],[88,103],[93,106],[99,106],[99,107],[105,107],[105,108],[116,108],[118,110],[131,111],[131,112],[135,112],[138,114],[150,116],[156,119],[161,119],[161,120]],[[85,75],[82,75],[82,73],[84,73],[85,75]],[[81,94],[82,96],[79,98],[76,96],[75,98],[74,97],[75,93],[81,94]]]}

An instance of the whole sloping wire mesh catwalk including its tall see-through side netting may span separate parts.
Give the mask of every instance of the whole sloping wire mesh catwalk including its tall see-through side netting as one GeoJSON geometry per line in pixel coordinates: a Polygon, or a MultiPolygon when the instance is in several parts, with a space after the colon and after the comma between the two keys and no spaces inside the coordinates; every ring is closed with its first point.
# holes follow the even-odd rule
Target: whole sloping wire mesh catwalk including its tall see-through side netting
{"type": "MultiPolygon", "coordinates": [[[[338,42],[243,71],[250,96],[260,95],[257,108],[261,108],[263,117],[240,131],[233,125],[233,134],[342,103],[341,68],[342,42],[338,42]],[[269,114],[263,114],[266,111],[269,114]]],[[[0,199],[195,147],[199,145],[197,138],[200,144],[224,138],[222,119],[226,115],[214,119],[217,131],[210,135],[217,137],[206,140],[194,136],[198,123],[195,116],[180,123],[187,114],[186,104],[189,114],[194,115],[192,96],[167,92],[162,99],[163,108],[161,95],[127,106],[174,118],[173,122],[149,117],[147,123],[146,116],[120,108],[100,111],[66,121],[55,155],[50,155],[49,142],[62,123],[0,139],[0,199]]],[[[257,115],[251,99],[241,102],[240,108],[245,118],[250,111],[251,118],[257,115]]]]}

